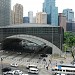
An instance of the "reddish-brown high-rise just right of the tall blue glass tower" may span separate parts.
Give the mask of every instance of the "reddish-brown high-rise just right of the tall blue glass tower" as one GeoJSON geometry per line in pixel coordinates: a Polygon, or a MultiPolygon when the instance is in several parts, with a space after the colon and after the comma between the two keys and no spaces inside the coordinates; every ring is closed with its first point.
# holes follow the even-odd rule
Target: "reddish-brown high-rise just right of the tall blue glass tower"
{"type": "Polygon", "coordinates": [[[63,15],[63,13],[59,13],[58,16],[58,25],[64,28],[64,31],[66,31],[66,16],[63,15]]]}

